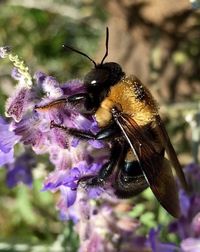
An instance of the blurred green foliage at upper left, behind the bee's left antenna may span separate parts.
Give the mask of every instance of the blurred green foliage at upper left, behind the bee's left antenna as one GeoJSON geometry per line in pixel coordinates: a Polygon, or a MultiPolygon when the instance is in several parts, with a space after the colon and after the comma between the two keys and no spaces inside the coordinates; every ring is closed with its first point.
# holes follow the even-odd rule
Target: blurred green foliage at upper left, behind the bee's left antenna
{"type": "MultiPolygon", "coordinates": [[[[69,1],[72,10],[68,10],[68,1],[59,2],[60,8],[66,8],[65,16],[60,9],[54,8],[58,1],[56,4],[55,1],[47,2],[45,10],[39,2],[39,6],[33,8],[29,8],[28,1],[27,8],[0,3],[0,45],[11,45],[13,51],[25,59],[33,74],[44,71],[65,82],[83,76],[91,63],[84,57],[74,57],[74,52],[64,50],[62,45],[80,48],[91,57],[95,55],[101,32],[105,32],[106,14],[98,7],[100,1],[69,1]],[[70,17],[72,11],[76,18],[70,17]]],[[[10,78],[10,69],[7,64],[1,65],[1,83],[10,78]]],[[[0,112],[3,112],[5,100],[2,92],[0,112]]]]}

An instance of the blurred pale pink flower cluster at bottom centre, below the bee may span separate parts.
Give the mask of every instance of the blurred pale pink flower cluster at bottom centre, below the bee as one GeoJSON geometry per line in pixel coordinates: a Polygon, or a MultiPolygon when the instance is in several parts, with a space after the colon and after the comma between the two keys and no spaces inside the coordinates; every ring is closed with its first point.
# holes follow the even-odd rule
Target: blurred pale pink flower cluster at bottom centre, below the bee
{"type": "Polygon", "coordinates": [[[104,194],[101,201],[79,191],[73,205],[79,234],[79,251],[148,251],[146,238],[135,234],[139,222],[128,217],[131,206],[104,194]],[[102,200],[103,199],[103,200],[102,200]]]}

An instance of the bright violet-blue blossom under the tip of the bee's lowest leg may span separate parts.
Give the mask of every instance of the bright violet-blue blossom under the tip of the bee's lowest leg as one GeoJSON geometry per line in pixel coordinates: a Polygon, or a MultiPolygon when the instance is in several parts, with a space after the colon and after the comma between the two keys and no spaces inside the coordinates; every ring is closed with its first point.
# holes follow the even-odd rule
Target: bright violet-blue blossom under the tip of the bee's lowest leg
{"type": "MultiPolygon", "coordinates": [[[[51,190],[53,192],[56,190],[61,191],[62,197],[58,207],[60,208],[62,219],[69,219],[71,218],[71,214],[68,214],[68,212],[70,212],[68,208],[70,208],[76,200],[79,180],[82,177],[96,174],[101,168],[101,164],[88,164],[86,161],[79,161],[73,168],[68,166],[64,166],[64,168],[65,169],[56,169],[49,174],[44,181],[43,190],[51,190]]],[[[87,192],[88,198],[90,199],[98,198],[107,191],[103,187],[84,188],[84,190],[87,192]]],[[[74,219],[74,215],[72,219],[74,219]]]]}

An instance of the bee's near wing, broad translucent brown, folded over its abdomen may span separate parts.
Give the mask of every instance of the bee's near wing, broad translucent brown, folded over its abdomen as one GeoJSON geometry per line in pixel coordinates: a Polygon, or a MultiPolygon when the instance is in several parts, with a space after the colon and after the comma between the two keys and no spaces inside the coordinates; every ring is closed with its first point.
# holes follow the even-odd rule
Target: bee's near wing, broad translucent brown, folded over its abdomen
{"type": "Polygon", "coordinates": [[[167,160],[155,150],[141,127],[130,116],[115,113],[113,117],[134,152],[152,192],[172,216],[179,217],[178,190],[167,160]]]}

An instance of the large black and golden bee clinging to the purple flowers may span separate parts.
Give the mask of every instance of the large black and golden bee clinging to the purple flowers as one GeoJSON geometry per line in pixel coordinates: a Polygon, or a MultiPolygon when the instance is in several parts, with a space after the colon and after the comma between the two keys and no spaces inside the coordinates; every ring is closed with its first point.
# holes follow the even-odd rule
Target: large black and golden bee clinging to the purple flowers
{"type": "Polygon", "coordinates": [[[107,28],[106,52],[100,64],[87,54],[64,45],[87,57],[94,65],[84,77],[86,91],[39,108],[60,103],[78,103],[83,104],[82,113],[95,116],[100,128],[97,134],[51,123],[52,127],[62,128],[80,139],[105,140],[110,143],[109,161],[97,175],[83,178],[87,186],[103,185],[114,174],[112,186],[119,198],[133,197],[150,187],[167,212],[178,218],[178,189],[171,164],[183,188],[187,188],[187,183],[159,116],[157,103],[137,77],[126,76],[115,62],[104,63],[108,55],[108,39],[107,28]],[[165,152],[169,160],[165,158],[165,152]]]}

